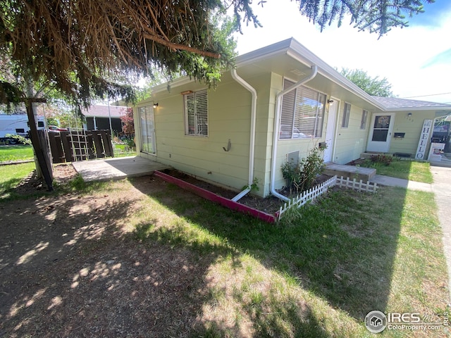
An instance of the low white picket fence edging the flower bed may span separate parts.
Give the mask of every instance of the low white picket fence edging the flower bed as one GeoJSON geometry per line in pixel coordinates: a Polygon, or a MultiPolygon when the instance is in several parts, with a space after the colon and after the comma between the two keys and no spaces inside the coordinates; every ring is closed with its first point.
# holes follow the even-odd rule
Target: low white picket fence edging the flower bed
{"type": "Polygon", "coordinates": [[[302,194],[299,194],[295,198],[290,199],[288,203],[285,203],[283,206],[281,206],[278,212],[278,220],[280,220],[282,214],[285,213],[285,211],[287,211],[288,209],[294,206],[300,208],[304,204],[307,204],[309,201],[314,201],[314,199],[318,198],[322,194],[325,194],[326,192],[328,192],[328,189],[330,187],[335,187],[335,185],[338,185],[340,188],[345,187],[363,192],[376,192],[377,189],[376,182],[371,183],[367,181],[366,183],[364,183],[362,182],[362,180],[357,182],[355,178],[354,180],[350,180],[350,177],[338,178],[337,175],[335,175],[333,177],[330,177],[330,179],[328,179],[326,182],[318,184],[315,187],[302,192],[302,194]]]}

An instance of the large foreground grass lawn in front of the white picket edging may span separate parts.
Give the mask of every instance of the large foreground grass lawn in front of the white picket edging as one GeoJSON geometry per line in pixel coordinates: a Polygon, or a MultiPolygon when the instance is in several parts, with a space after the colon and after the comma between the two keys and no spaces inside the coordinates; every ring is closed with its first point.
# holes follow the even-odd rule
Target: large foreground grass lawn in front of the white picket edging
{"type": "Polygon", "coordinates": [[[433,194],[333,192],[268,225],[179,192],[149,196],[128,221],[139,242],[211,257],[196,337],[370,337],[364,318],[373,310],[443,323],[447,273],[433,194]]]}

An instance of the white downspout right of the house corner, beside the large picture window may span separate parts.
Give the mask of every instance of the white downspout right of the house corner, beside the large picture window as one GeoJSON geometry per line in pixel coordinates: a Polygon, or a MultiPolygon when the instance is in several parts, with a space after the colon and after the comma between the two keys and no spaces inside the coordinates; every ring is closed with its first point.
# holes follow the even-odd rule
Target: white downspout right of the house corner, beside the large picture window
{"type": "Polygon", "coordinates": [[[276,181],[276,159],[277,159],[277,146],[278,146],[278,130],[280,127],[280,109],[282,108],[280,105],[282,96],[288,92],[291,92],[293,89],[296,89],[297,87],[301,86],[302,84],[309,82],[311,79],[313,79],[316,76],[316,73],[318,71],[318,67],[316,65],[311,66],[311,73],[308,77],[305,77],[304,79],[300,80],[299,82],[296,82],[291,87],[288,87],[286,89],[283,89],[282,92],[278,93],[276,95],[276,109],[274,113],[274,132],[273,132],[273,154],[271,156],[271,181],[270,181],[270,191],[273,196],[276,196],[278,199],[282,199],[283,201],[290,201],[290,199],[287,196],[283,196],[282,194],[279,194],[276,192],[276,188],[274,187],[275,181],[276,181]]]}

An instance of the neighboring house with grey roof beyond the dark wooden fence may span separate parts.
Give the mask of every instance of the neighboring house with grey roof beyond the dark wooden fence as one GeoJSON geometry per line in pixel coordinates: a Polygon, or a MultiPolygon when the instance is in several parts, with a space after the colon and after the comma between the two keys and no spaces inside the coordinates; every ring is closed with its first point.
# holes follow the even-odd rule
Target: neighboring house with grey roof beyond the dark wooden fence
{"type": "Polygon", "coordinates": [[[121,116],[125,115],[126,109],[127,107],[123,106],[102,106],[99,104],[90,106],[87,111],[82,109],[82,114],[86,118],[85,130],[112,129],[114,134],[120,134],[122,132],[121,116]]]}

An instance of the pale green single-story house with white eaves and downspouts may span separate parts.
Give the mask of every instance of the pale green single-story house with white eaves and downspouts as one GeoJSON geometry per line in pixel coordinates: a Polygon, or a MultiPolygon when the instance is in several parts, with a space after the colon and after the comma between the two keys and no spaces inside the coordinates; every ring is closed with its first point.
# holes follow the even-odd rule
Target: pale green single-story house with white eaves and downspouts
{"type": "Polygon", "coordinates": [[[257,182],[254,193],[277,196],[280,166],[320,143],[324,161],[340,164],[378,142],[373,151],[414,155],[424,120],[451,113],[369,96],[295,39],[235,64],[215,89],[187,77],[154,87],[134,111],[138,154],[238,190],[257,182]]]}

